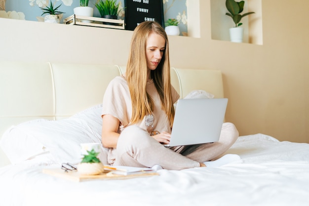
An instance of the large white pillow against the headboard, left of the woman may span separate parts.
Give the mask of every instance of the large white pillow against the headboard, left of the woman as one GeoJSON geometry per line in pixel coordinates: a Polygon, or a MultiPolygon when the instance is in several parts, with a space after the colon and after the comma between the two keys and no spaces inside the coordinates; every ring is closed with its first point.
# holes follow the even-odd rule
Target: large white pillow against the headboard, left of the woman
{"type": "MultiPolygon", "coordinates": [[[[101,111],[102,105],[97,105],[68,119],[14,126],[2,137],[5,141],[5,144],[1,143],[3,151],[14,164],[33,157],[45,147],[57,163],[77,164],[81,160],[80,143],[101,143],[101,111]],[[14,149],[8,146],[16,145],[18,141],[21,141],[20,147],[14,149]]],[[[107,164],[107,153],[108,149],[102,146],[99,159],[103,164],[107,164]]]]}

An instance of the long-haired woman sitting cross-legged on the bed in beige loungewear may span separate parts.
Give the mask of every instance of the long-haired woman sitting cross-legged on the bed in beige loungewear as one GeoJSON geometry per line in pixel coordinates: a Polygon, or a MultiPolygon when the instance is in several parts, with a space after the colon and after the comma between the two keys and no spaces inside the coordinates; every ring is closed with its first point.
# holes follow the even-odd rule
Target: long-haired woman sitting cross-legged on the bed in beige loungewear
{"type": "MultiPolygon", "coordinates": [[[[170,83],[168,39],[156,22],[143,22],[133,33],[123,76],[110,82],[103,99],[102,144],[109,149],[111,165],[184,169],[210,165],[238,137],[225,123],[219,142],[171,149],[168,144],[179,94],[170,83]]],[[[214,161],[222,165],[239,156],[214,161]],[[221,163],[220,163],[221,162],[221,163]]]]}

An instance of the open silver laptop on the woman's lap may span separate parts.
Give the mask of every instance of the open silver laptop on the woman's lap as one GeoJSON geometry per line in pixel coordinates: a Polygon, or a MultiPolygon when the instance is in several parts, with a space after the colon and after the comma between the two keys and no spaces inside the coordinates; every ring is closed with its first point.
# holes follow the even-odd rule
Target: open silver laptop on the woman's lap
{"type": "Polygon", "coordinates": [[[227,105],[227,98],[178,100],[171,139],[164,146],[217,142],[227,105]]]}

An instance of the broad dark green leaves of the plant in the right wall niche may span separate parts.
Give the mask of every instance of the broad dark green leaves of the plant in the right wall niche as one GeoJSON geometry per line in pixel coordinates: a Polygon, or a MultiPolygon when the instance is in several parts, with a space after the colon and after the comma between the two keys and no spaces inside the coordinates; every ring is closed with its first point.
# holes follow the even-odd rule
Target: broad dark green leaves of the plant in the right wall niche
{"type": "Polygon", "coordinates": [[[242,25],[240,23],[240,20],[242,17],[247,16],[249,14],[253,14],[254,12],[248,12],[244,14],[240,14],[243,11],[243,6],[245,4],[245,1],[241,0],[239,2],[236,2],[235,0],[226,0],[226,6],[230,13],[226,13],[226,15],[230,16],[233,19],[233,22],[235,23],[235,27],[239,27],[242,25]]]}

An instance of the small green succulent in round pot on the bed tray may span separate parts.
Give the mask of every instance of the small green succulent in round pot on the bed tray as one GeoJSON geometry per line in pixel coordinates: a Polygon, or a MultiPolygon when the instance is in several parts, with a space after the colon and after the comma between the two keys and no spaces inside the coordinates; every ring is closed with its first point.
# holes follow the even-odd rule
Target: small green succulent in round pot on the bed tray
{"type": "Polygon", "coordinates": [[[84,155],[81,162],[77,165],[77,171],[80,174],[85,175],[95,175],[100,174],[104,171],[104,165],[97,158],[98,152],[95,152],[94,149],[87,151],[87,155],[84,155]]]}

